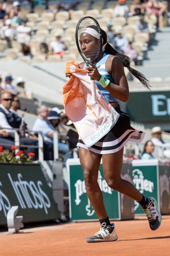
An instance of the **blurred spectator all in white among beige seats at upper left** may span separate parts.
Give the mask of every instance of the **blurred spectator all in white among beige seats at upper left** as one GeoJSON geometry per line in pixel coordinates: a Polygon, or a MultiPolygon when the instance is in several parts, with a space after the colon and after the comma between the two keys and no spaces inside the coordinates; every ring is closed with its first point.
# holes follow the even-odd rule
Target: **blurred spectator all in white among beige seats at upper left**
{"type": "Polygon", "coordinates": [[[16,28],[16,39],[29,45],[31,39],[31,27],[27,26],[27,19],[21,20],[21,25],[16,28]]]}

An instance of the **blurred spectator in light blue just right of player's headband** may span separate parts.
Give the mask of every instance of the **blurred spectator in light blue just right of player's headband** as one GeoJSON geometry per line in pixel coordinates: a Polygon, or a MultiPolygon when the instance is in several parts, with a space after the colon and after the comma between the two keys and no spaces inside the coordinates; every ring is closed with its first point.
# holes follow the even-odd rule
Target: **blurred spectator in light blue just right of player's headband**
{"type": "Polygon", "coordinates": [[[124,49],[128,46],[128,38],[125,37],[125,35],[122,34],[121,30],[115,30],[115,37],[111,41],[111,44],[113,44],[113,47],[118,52],[124,52],[124,49]]]}

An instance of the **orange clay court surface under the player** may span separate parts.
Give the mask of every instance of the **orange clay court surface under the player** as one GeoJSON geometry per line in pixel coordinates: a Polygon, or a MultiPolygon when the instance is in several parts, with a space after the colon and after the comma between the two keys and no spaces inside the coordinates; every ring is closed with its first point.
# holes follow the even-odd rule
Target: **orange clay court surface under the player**
{"type": "Polygon", "coordinates": [[[114,221],[118,240],[86,243],[99,230],[99,222],[25,226],[19,233],[0,232],[1,256],[169,256],[170,215],[162,216],[158,230],[149,229],[145,216],[133,221],[114,221]]]}

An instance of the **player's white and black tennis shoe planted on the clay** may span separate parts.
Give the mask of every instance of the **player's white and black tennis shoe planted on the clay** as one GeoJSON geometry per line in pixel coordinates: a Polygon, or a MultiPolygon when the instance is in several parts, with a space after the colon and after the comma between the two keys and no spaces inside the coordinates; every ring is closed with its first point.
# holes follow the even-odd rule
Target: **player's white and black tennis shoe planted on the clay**
{"type": "Polygon", "coordinates": [[[102,223],[100,230],[91,237],[88,237],[86,241],[88,243],[115,241],[118,239],[117,233],[115,233],[114,224],[107,226],[106,223],[102,223]]]}

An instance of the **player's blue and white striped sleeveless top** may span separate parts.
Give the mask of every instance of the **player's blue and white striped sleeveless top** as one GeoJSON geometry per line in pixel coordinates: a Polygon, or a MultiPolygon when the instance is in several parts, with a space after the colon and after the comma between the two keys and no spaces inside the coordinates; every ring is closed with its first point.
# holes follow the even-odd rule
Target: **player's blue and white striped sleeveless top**
{"type": "MultiPolygon", "coordinates": [[[[100,59],[99,62],[96,62],[96,67],[99,71],[99,73],[102,75],[102,76],[105,76],[108,80],[111,81],[111,83],[115,83],[114,82],[114,79],[113,77],[107,73],[107,70],[106,70],[106,61],[108,59],[108,57],[110,56],[110,54],[104,54],[102,59],[100,59]]],[[[106,99],[106,101],[108,102],[118,102],[118,99],[115,98],[113,95],[111,95],[109,93],[109,91],[107,91],[106,88],[103,88],[98,81],[95,81],[96,82],[96,86],[99,88],[99,90],[101,91],[101,93],[103,94],[104,98],[106,99]]]]}

